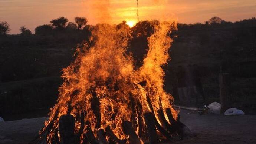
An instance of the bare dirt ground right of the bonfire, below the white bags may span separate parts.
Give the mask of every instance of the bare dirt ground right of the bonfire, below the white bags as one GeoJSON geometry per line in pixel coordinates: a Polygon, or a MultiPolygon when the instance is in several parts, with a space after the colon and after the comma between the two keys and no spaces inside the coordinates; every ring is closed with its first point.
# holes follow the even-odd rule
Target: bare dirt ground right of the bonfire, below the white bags
{"type": "Polygon", "coordinates": [[[196,137],[180,144],[256,144],[256,115],[198,115],[182,111],[181,121],[196,137]]]}

